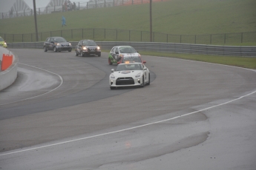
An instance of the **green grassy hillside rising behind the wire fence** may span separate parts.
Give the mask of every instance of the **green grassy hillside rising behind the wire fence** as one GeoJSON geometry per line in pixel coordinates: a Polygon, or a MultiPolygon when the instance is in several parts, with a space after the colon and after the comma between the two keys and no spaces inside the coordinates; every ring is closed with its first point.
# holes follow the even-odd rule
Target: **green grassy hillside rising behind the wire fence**
{"type": "MultiPolygon", "coordinates": [[[[168,0],[152,4],[153,32],[174,35],[256,32],[255,0],[168,0]]],[[[149,4],[38,15],[39,33],[107,28],[149,31],[149,4]]],[[[35,33],[33,16],[0,19],[0,33],[35,33]]]]}

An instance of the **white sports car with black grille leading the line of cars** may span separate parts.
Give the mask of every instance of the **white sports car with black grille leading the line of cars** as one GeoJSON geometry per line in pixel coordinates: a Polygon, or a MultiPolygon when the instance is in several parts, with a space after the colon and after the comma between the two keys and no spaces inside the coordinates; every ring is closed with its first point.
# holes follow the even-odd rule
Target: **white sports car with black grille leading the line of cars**
{"type": "Polygon", "coordinates": [[[150,72],[144,64],[126,63],[111,69],[109,85],[111,89],[119,86],[145,86],[150,84],[150,72]]]}

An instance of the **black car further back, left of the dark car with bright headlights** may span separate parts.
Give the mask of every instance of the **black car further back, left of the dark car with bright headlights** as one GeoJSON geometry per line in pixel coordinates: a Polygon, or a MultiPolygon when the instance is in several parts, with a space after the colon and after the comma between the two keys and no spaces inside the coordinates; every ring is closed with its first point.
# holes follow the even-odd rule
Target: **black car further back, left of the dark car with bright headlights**
{"type": "Polygon", "coordinates": [[[63,37],[48,37],[44,43],[44,51],[53,50],[54,52],[72,51],[72,45],[63,37]]]}

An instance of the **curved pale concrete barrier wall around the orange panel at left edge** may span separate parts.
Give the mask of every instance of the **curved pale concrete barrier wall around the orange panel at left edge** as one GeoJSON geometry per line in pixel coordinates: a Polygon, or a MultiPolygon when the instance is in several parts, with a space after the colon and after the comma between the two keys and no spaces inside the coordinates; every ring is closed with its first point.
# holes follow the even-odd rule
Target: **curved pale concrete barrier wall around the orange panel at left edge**
{"type": "MultiPolygon", "coordinates": [[[[13,55],[10,50],[7,50],[4,47],[0,47],[0,60],[2,60],[3,54],[13,55]]],[[[7,88],[17,78],[17,67],[18,67],[19,58],[17,55],[13,55],[13,64],[4,71],[0,70],[0,90],[7,88]]]]}

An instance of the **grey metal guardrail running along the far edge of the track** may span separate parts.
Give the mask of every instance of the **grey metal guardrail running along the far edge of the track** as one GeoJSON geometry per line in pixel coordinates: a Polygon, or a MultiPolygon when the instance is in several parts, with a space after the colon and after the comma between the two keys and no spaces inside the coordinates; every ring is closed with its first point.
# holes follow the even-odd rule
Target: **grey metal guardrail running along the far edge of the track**
{"type": "MultiPolygon", "coordinates": [[[[70,41],[73,48],[77,41],[70,41]]],[[[38,48],[43,49],[44,42],[29,43],[8,43],[8,48],[38,48]]],[[[255,46],[217,46],[203,44],[180,44],[180,43],[157,43],[157,42],[123,42],[123,41],[96,41],[102,50],[111,50],[118,45],[129,45],[140,51],[154,52],[174,52],[186,54],[206,54],[206,55],[235,55],[256,57],[255,46]]]]}

